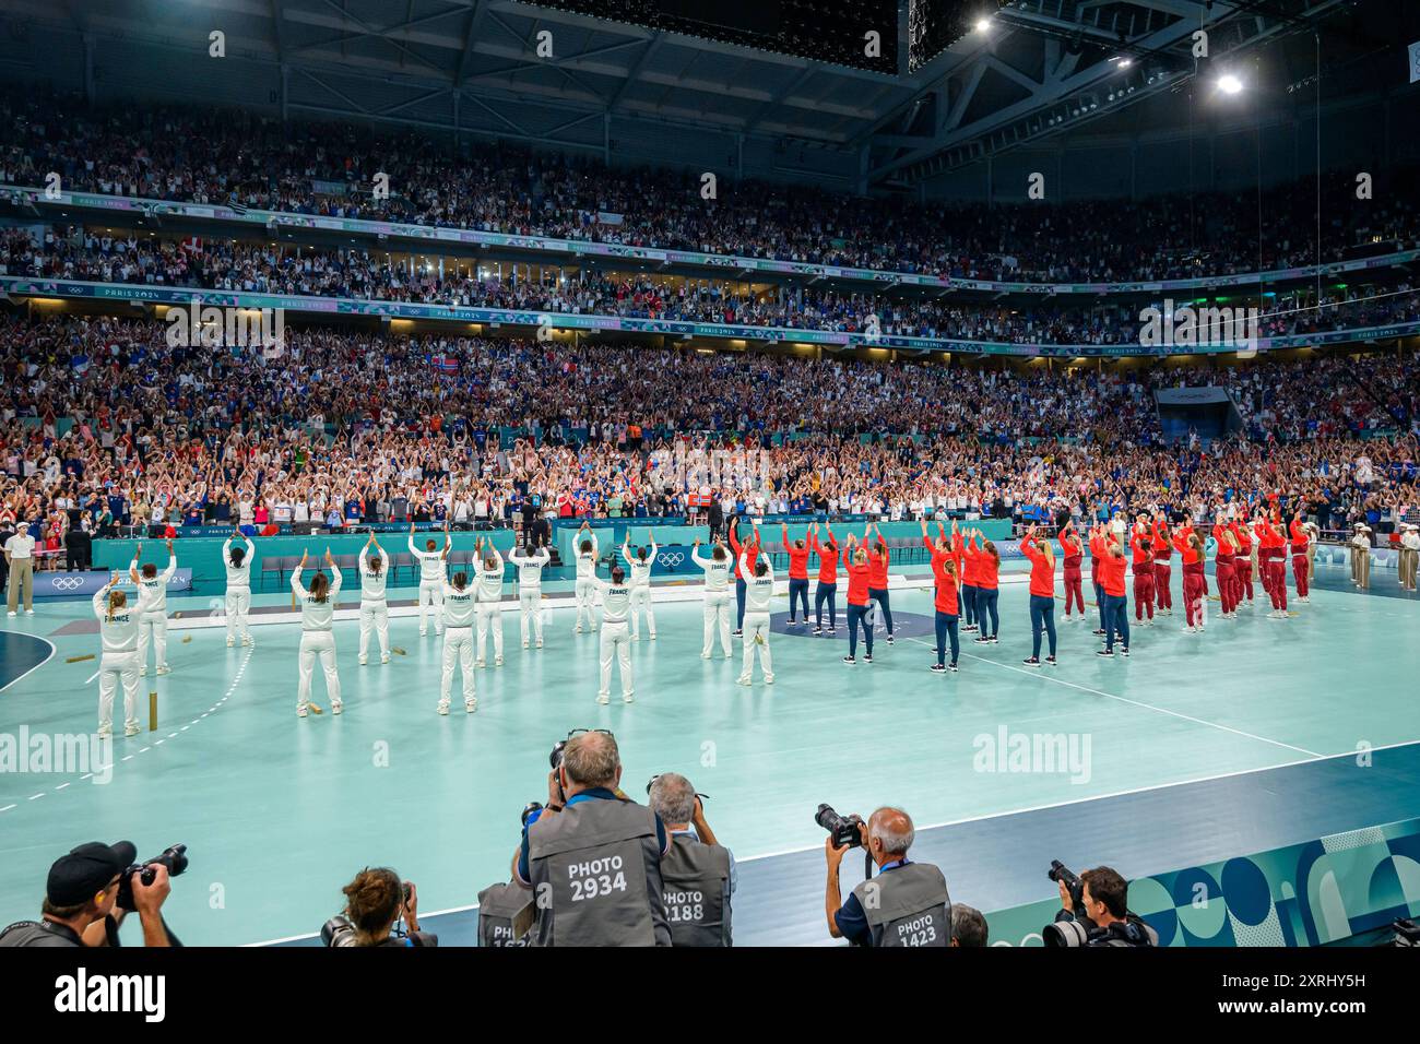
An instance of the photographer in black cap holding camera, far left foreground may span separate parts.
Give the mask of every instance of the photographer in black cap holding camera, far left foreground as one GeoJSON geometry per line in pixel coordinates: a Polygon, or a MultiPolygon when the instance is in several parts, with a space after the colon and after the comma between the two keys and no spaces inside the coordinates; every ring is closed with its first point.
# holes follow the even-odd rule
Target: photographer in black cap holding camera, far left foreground
{"type": "Polygon", "coordinates": [[[118,946],[118,926],[126,910],[118,905],[124,874],[132,868],[132,902],[143,925],[143,946],[173,946],[162,906],[172,886],[168,866],[153,864],[145,885],[143,868],[133,868],[138,849],[128,841],[91,841],[50,866],[44,886],[43,920],[21,920],[0,932],[0,946],[118,946]]]}

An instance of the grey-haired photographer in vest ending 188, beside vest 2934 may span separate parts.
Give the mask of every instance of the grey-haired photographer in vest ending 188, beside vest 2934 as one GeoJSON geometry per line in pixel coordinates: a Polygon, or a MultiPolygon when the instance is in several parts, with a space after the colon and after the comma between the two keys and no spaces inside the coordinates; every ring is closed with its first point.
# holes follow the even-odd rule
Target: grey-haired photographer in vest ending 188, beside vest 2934
{"type": "Polygon", "coordinates": [[[731,946],[730,896],[738,874],[728,848],[716,842],[704,804],[690,780],[663,773],[646,787],[650,808],[670,831],[660,861],[672,946],[731,946]]]}

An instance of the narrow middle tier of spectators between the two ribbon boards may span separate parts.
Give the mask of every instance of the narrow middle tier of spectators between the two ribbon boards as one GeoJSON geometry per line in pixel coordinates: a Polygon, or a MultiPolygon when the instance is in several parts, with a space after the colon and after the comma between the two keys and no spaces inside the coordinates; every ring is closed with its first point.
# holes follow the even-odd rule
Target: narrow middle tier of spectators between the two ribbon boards
{"type": "MultiPolygon", "coordinates": [[[[375,301],[595,314],[750,327],[863,332],[1012,344],[1139,342],[1139,308],[1032,300],[1020,307],[944,298],[582,273],[506,277],[473,263],[437,268],[427,260],[368,250],[295,244],[156,239],[58,226],[43,236],[11,229],[0,237],[0,274],[159,287],[193,287],[375,301]]],[[[1420,321],[1409,283],[1379,294],[1367,287],[1275,294],[1260,308],[1258,334],[1281,337],[1420,321]]],[[[1255,300],[1255,298],[1254,298],[1255,300]]]]}

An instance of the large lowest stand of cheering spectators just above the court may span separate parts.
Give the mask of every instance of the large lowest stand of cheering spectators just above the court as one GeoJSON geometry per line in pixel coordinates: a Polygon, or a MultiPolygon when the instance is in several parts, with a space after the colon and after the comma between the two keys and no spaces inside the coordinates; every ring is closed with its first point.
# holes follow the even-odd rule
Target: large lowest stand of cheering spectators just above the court
{"type": "Polygon", "coordinates": [[[1390,355],[990,368],[290,330],[266,358],[165,332],[4,324],[0,521],[57,548],[153,523],[689,517],[711,491],[726,514],[890,520],[1281,496],[1387,531],[1417,510],[1420,391],[1390,355]],[[1153,392],[1197,385],[1228,389],[1244,429],[1166,440],[1153,392]],[[753,466],[714,486],[684,467],[716,447],[753,466]]]}

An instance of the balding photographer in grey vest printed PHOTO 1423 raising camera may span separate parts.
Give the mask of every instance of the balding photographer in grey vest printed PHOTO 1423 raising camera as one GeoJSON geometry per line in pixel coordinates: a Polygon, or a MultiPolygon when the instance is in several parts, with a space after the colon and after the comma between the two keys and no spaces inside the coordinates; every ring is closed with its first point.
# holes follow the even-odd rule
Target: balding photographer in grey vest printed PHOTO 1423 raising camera
{"type": "Polygon", "coordinates": [[[929,862],[910,862],[907,849],[916,838],[912,817],[900,808],[879,808],[868,822],[856,821],[858,839],[848,841],[846,827],[828,810],[819,825],[829,830],[825,909],[828,933],[855,946],[947,946],[951,940],[951,898],[947,879],[929,862]],[[832,825],[831,825],[832,824],[832,825]],[[838,828],[835,828],[838,827],[838,828]],[[838,844],[842,841],[843,844],[838,844]],[[858,885],[839,903],[838,868],[849,848],[862,845],[878,865],[878,876],[858,885]]]}

